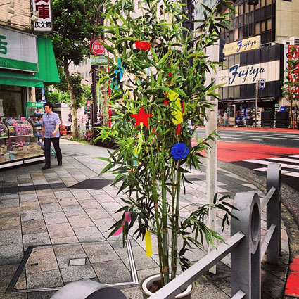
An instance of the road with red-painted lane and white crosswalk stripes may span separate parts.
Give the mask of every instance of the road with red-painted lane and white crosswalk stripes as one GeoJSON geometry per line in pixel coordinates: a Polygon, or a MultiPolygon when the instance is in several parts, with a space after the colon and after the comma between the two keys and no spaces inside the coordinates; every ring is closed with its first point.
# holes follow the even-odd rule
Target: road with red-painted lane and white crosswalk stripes
{"type": "MultiPolygon", "coordinates": [[[[205,136],[204,129],[196,133],[205,136]]],[[[218,134],[218,160],[247,167],[258,175],[266,174],[269,163],[280,163],[282,181],[299,192],[299,131],[220,129],[218,134]]]]}

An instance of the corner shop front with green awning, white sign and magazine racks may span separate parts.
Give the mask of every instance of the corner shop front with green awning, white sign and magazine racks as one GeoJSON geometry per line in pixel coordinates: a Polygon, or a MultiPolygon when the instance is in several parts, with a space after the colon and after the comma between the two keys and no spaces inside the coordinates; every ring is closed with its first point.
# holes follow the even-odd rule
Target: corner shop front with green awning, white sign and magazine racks
{"type": "Polygon", "coordinates": [[[56,82],[51,40],[0,27],[0,169],[44,158],[33,87],[56,82]]]}

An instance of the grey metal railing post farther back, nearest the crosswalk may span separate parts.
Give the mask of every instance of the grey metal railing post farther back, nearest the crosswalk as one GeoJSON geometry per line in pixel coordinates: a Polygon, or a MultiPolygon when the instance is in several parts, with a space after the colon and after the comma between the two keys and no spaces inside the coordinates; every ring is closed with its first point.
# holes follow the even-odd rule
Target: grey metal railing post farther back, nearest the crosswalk
{"type": "Polygon", "coordinates": [[[275,187],[272,198],[267,204],[267,229],[272,224],[276,226],[271,241],[267,247],[267,262],[277,264],[281,251],[281,166],[271,163],[267,170],[267,192],[275,187]]]}

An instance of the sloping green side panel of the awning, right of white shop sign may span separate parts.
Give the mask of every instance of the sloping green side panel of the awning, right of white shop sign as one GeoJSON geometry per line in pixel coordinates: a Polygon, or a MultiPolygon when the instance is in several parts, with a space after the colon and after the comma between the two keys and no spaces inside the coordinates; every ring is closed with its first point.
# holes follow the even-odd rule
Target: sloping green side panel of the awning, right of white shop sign
{"type": "Polygon", "coordinates": [[[51,39],[46,39],[46,37],[42,36],[37,37],[37,47],[39,53],[39,72],[37,77],[41,78],[46,85],[61,82],[51,39]]]}

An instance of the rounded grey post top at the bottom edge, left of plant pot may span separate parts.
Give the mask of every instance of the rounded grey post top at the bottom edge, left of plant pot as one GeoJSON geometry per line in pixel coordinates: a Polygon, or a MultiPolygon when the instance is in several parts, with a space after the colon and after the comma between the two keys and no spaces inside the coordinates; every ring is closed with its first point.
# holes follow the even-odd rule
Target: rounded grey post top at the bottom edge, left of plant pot
{"type": "Polygon", "coordinates": [[[86,279],[66,284],[50,299],[127,299],[127,297],[117,288],[86,279]]]}

